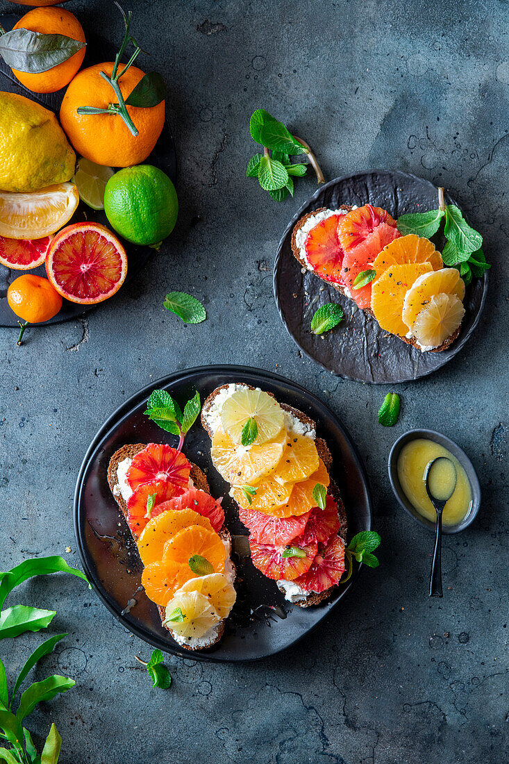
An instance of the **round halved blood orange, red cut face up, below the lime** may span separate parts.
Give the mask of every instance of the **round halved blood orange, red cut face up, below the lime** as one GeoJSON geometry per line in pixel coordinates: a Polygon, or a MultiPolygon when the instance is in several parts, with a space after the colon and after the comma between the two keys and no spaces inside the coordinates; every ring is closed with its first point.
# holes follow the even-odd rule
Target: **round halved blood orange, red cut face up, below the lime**
{"type": "Polygon", "coordinates": [[[71,303],[95,305],[112,297],[125,281],[127,254],[118,238],[99,223],[75,223],[53,238],[47,277],[71,303]]]}

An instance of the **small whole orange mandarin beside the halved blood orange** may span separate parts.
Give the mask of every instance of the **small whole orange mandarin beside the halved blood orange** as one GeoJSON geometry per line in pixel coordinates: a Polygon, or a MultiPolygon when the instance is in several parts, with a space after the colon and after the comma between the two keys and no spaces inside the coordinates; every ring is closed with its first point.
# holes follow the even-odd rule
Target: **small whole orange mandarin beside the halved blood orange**
{"type": "Polygon", "coordinates": [[[7,302],[20,319],[30,324],[49,321],[62,307],[62,298],[47,279],[24,274],[15,279],[7,290],[7,302]]]}

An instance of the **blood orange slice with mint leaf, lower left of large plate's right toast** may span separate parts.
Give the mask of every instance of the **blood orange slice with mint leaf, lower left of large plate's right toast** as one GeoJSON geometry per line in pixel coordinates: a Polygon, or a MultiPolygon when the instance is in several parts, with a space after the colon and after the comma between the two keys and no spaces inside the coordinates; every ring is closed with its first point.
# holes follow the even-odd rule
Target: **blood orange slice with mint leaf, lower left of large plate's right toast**
{"type": "Polygon", "coordinates": [[[305,544],[302,536],[293,539],[291,545],[258,544],[249,539],[251,560],[267,578],[275,581],[293,581],[310,568],[318,549],[317,544],[305,544]],[[288,557],[284,557],[284,552],[288,557]]]}

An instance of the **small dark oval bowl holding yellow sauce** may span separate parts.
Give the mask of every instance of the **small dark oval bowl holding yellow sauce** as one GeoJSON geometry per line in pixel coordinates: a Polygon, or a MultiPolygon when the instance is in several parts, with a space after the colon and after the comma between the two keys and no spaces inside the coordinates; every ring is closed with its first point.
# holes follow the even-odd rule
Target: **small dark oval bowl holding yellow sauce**
{"type": "Polygon", "coordinates": [[[425,526],[434,532],[435,523],[432,523],[430,520],[426,520],[425,517],[420,516],[417,510],[414,509],[404,494],[404,490],[400,485],[399,478],[397,477],[397,460],[399,458],[401,448],[403,448],[404,445],[407,445],[407,443],[411,440],[416,440],[417,438],[424,438],[442,445],[443,448],[446,448],[447,451],[449,451],[453,456],[456,456],[459,464],[462,465],[462,468],[467,474],[470,490],[472,491],[472,507],[470,507],[470,511],[460,523],[457,523],[453,526],[443,526],[443,533],[459,533],[460,530],[463,530],[469,526],[470,523],[475,520],[475,516],[477,516],[479,507],[481,506],[481,486],[479,485],[478,477],[472,465],[472,461],[470,461],[462,448],[459,448],[459,445],[457,445],[450,438],[447,438],[446,435],[442,435],[440,432],[435,432],[434,430],[413,429],[409,430],[409,432],[405,432],[404,435],[401,435],[401,437],[397,439],[391,448],[388,464],[389,480],[391,481],[392,490],[394,490],[394,496],[397,498],[405,512],[413,517],[413,520],[417,520],[417,523],[420,523],[420,525],[425,526]]]}

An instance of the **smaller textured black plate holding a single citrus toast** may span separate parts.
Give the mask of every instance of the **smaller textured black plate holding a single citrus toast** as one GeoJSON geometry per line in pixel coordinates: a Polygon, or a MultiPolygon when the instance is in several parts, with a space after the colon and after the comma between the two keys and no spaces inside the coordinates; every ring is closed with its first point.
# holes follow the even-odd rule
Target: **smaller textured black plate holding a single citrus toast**
{"type": "MultiPolygon", "coordinates": [[[[337,209],[345,203],[358,206],[370,203],[398,218],[406,212],[436,209],[438,189],[415,175],[387,170],[336,178],[321,186],[293,216],[277,248],[274,295],[281,319],[301,350],[339,377],[376,384],[425,377],[450,361],[468,342],[485,304],[488,273],[482,279],[472,280],[467,287],[465,318],[459,338],[451,348],[439,353],[421,353],[394,335],[388,335],[378,322],[325,281],[307,270],[302,273],[293,257],[291,238],[297,221],[319,207],[337,209]],[[340,303],[345,319],[322,339],[310,331],[310,322],[313,312],[324,303],[340,303]]],[[[457,204],[448,194],[446,203],[457,204]]],[[[444,239],[440,241],[440,238],[436,238],[435,245],[442,251],[444,239]]]]}

